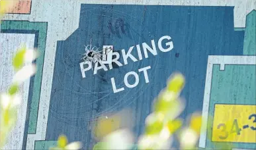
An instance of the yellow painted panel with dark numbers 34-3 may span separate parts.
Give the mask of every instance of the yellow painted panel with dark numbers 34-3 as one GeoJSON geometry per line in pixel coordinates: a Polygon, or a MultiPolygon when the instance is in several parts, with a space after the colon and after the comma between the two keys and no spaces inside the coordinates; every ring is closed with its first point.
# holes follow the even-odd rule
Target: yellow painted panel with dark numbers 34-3
{"type": "Polygon", "coordinates": [[[256,105],[216,104],[212,141],[256,143],[256,105]]]}

